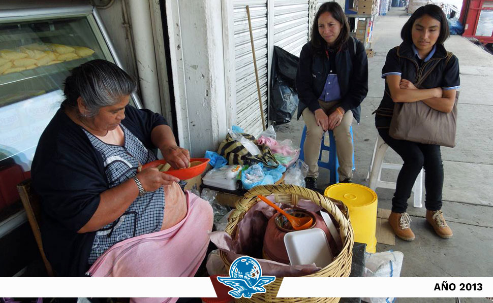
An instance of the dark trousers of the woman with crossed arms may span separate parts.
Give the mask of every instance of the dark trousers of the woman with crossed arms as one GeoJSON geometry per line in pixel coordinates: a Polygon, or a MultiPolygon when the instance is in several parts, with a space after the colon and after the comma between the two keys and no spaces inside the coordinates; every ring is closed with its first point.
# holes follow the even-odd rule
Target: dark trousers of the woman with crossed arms
{"type": "MultiPolygon", "coordinates": [[[[424,167],[425,207],[430,211],[442,208],[443,164],[439,145],[397,140],[389,136],[388,128],[378,128],[380,137],[404,160],[397,177],[392,212],[404,213],[408,207],[414,182],[424,167]]],[[[415,193],[416,194],[416,193],[415,193]]]]}

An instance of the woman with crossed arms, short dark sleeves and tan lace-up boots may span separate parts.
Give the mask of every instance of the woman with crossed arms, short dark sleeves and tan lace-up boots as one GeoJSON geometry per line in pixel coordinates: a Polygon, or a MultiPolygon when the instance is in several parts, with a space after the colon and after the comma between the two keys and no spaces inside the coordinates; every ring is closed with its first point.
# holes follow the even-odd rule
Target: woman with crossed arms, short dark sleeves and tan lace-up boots
{"type": "Polygon", "coordinates": [[[424,167],[426,220],[440,237],[450,238],[452,230],[440,211],[443,187],[440,146],[394,139],[389,136],[389,126],[394,103],[423,102],[437,111],[450,113],[456,89],[460,87],[459,62],[443,46],[449,37],[449,28],[445,14],[436,5],[417,9],[404,24],[400,37],[403,43],[388,52],[382,69],[385,93],[375,116],[378,133],[404,160],[397,177],[389,222],[397,237],[407,241],[415,239],[411,218],[406,213],[407,200],[424,167]],[[420,89],[416,88],[414,83],[426,74],[420,89]]]}

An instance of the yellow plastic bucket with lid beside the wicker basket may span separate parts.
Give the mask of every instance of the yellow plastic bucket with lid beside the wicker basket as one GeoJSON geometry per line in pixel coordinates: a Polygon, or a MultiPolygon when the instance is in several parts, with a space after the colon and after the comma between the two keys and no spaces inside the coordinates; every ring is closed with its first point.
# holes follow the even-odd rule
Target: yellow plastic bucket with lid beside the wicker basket
{"type": "Polygon", "coordinates": [[[366,243],[366,251],[375,253],[378,201],[375,191],[360,184],[337,183],[327,187],[324,195],[343,201],[349,210],[354,241],[366,243]]]}

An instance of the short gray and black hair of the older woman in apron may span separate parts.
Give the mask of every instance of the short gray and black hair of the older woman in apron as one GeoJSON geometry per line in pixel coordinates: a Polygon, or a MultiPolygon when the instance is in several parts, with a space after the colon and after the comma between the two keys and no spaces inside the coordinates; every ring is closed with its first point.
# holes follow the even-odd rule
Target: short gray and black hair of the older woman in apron
{"type": "Polygon", "coordinates": [[[72,74],[65,79],[66,99],[61,106],[78,111],[77,99],[80,96],[88,110],[84,117],[94,117],[101,107],[118,104],[120,97],[136,90],[135,79],[114,63],[91,60],[73,69],[72,74]]]}

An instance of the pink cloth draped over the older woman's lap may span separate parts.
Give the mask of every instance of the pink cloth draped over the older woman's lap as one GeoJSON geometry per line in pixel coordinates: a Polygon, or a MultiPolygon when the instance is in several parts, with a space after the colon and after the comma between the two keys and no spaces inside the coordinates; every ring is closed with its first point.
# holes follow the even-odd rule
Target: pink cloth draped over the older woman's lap
{"type": "MultiPolygon", "coordinates": [[[[205,257],[212,230],[209,203],[186,192],[187,215],[165,230],[127,239],[110,247],[87,272],[91,277],[193,277],[205,257]]],[[[141,301],[176,298],[142,298],[141,301]]],[[[135,298],[133,301],[139,301],[135,298]]]]}

